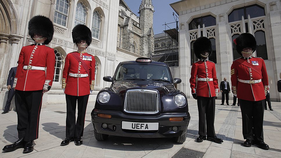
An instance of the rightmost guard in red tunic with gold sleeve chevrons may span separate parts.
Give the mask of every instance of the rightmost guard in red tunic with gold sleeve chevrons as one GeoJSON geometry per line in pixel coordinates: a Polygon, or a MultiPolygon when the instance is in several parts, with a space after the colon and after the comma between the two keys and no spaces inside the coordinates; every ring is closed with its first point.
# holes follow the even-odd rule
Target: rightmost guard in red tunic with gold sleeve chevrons
{"type": "Polygon", "coordinates": [[[242,33],[236,39],[237,52],[243,57],[231,65],[231,82],[233,95],[239,98],[242,114],[242,131],[246,141],[244,146],[256,144],[269,149],[263,138],[264,99],[269,89],[264,60],[253,57],[257,48],[255,37],[242,33]]]}

